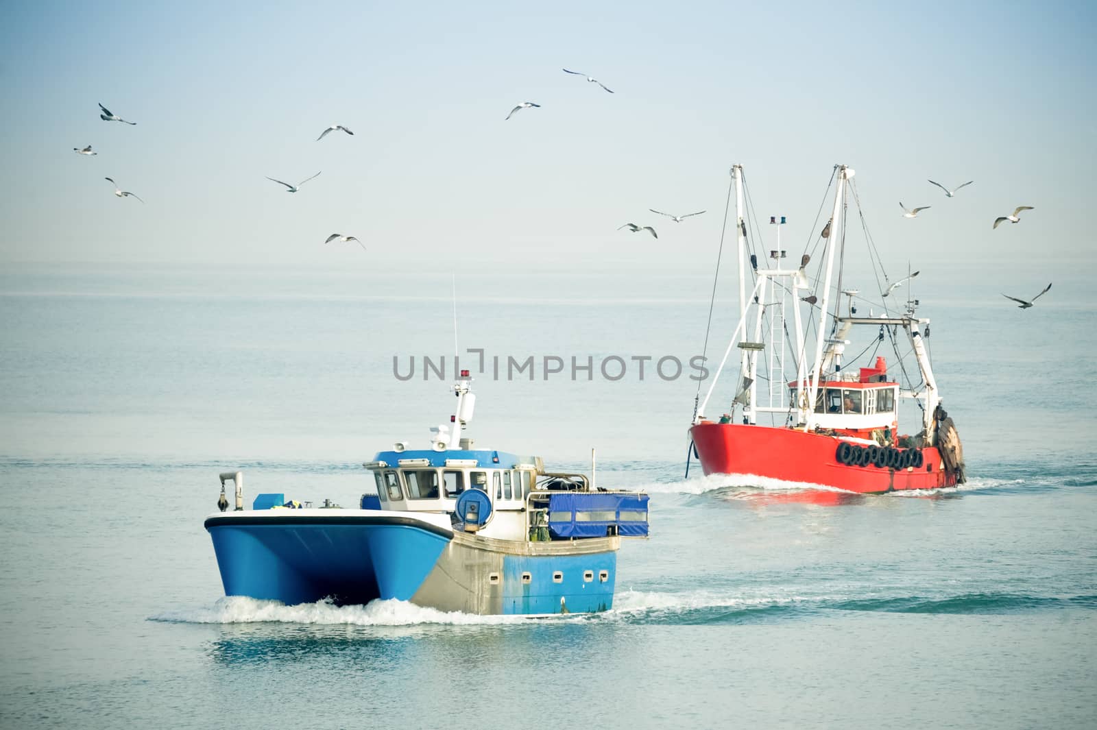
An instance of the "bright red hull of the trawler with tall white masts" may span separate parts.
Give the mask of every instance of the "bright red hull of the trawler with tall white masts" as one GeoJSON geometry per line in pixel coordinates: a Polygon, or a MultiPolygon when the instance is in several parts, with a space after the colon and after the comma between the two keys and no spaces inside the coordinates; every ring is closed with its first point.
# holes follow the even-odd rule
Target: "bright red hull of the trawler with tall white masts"
{"type": "Polygon", "coordinates": [[[709,474],[753,475],[781,481],[822,484],[861,494],[903,489],[954,487],[957,477],[941,468],[937,448],[921,448],[921,465],[891,469],[842,464],[837,436],[793,429],[701,422],[690,429],[709,474]]]}

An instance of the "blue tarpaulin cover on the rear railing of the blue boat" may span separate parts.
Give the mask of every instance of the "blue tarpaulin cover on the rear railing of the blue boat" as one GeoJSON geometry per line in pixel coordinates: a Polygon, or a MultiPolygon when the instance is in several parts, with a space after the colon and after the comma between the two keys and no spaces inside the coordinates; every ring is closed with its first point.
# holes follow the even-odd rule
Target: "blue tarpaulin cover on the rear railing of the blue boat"
{"type": "Polygon", "coordinates": [[[611,525],[622,537],[647,537],[647,494],[559,492],[548,498],[548,532],[556,539],[606,537],[611,525]]]}

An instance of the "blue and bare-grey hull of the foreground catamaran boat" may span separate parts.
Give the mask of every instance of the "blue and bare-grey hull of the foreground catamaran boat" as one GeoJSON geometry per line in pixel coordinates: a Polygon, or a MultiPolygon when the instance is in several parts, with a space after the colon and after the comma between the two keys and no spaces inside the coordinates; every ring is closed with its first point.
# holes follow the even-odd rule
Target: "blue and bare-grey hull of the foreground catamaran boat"
{"type": "Polygon", "coordinates": [[[504,540],[454,532],[441,524],[444,515],[426,517],[259,510],[215,514],[205,527],[226,595],[287,605],[395,598],[484,615],[613,606],[619,537],[504,540]]]}

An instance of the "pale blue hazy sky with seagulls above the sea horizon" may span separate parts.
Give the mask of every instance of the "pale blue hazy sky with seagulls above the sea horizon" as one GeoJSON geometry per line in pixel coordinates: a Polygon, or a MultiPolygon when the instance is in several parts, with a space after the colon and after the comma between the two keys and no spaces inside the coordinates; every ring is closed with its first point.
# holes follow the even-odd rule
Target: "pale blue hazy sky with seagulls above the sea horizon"
{"type": "Polygon", "coordinates": [[[847,163],[895,269],[1094,263],[1097,5],[762,4],[2,2],[0,266],[701,272],[733,163],[796,252],[847,163]]]}

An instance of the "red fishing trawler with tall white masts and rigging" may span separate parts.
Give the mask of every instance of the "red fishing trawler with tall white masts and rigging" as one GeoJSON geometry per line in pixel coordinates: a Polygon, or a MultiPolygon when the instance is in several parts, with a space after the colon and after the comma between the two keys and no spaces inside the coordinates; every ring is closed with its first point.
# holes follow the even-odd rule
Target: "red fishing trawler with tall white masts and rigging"
{"type": "MultiPolygon", "coordinates": [[[[886,288],[875,298],[879,312],[871,308],[872,298],[841,288],[840,267],[835,285],[835,258],[847,261],[842,217],[853,171],[835,168],[833,215],[808,244],[813,252],[822,248],[825,260],[814,277],[807,270],[812,255],[806,250],[798,269],[781,267],[785,252],[780,248],[770,251],[771,266],[758,265],[758,254],[748,252],[746,241],[742,167],[735,166],[732,174],[738,213],[740,317],[703,401],[698,392],[691,454],[700,459],[704,474],[748,475],[859,493],[962,483],[963,448],[952,419],[941,407],[926,347],[929,320],[915,316],[917,299],[908,297],[898,311],[891,310],[887,299],[917,272],[896,282],[883,275],[886,288]],[[754,280],[749,295],[748,276],[754,280]],[[869,312],[858,315],[858,306],[870,307],[869,312]],[[856,341],[855,329],[868,330],[871,338],[847,364],[844,360],[856,341]],[[749,337],[748,330],[753,330],[749,337]],[[822,334],[812,342],[810,332],[822,334]],[[705,409],[736,347],[740,351],[739,387],[727,411],[713,421],[705,409]],[[879,354],[881,347],[896,355],[895,370],[902,378],[893,377],[885,356],[879,354]],[[868,360],[858,365],[866,354],[868,360]],[[793,372],[789,379],[787,373],[793,372]],[[766,393],[759,393],[759,381],[767,386],[768,402],[762,402],[766,393]],[[920,410],[913,433],[900,427],[901,403],[908,409],[914,403],[920,410]],[[768,424],[759,423],[767,419],[768,424]]],[[[776,218],[770,223],[779,226],[776,218]]],[[[688,468],[687,463],[687,474],[688,468]]]]}

